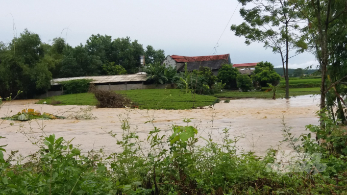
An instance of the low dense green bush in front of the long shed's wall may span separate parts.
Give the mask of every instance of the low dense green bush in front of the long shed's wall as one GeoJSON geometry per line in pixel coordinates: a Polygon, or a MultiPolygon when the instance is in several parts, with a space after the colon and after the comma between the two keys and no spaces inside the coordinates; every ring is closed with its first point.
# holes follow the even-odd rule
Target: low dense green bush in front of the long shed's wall
{"type": "Polygon", "coordinates": [[[91,79],[76,79],[60,82],[67,94],[88,92],[91,79]]]}

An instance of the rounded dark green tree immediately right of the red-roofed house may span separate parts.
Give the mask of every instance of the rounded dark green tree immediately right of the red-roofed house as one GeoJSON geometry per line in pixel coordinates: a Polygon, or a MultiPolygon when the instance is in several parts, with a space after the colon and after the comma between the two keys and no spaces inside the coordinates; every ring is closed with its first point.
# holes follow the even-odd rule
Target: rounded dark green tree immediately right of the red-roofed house
{"type": "Polygon", "coordinates": [[[218,71],[218,80],[226,84],[227,88],[236,88],[236,77],[240,72],[232,64],[224,64],[218,71]]]}

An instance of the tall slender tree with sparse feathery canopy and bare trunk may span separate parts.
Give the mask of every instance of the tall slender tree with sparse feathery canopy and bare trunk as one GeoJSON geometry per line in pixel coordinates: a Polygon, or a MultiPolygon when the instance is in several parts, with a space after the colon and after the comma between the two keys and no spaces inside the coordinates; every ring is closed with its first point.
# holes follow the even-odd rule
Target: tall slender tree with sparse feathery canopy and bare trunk
{"type": "Polygon", "coordinates": [[[245,43],[262,42],[264,47],[271,48],[272,52],[280,54],[283,66],[283,74],[286,81],[286,99],[289,98],[289,56],[298,40],[295,31],[298,30],[300,18],[295,10],[295,4],[287,0],[238,0],[242,6],[249,3],[255,5],[252,9],[240,9],[240,15],[245,20],[241,25],[233,25],[231,30],[236,36],[244,36],[245,43]]]}

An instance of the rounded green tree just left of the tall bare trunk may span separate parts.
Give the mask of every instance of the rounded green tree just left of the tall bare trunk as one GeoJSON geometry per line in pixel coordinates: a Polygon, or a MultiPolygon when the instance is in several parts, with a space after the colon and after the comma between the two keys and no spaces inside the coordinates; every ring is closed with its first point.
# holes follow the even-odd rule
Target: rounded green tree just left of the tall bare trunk
{"type": "Polygon", "coordinates": [[[270,62],[259,62],[254,70],[252,79],[260,86],[265,87],[267,83],[276,85],[280,81],[281,76],[274,70],[274,65],[270,62]]]}

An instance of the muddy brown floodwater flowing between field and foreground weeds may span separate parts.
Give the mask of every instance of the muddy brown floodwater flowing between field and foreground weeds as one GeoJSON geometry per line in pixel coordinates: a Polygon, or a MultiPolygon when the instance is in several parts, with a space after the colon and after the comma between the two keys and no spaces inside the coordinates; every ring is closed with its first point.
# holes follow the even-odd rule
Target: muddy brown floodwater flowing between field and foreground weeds
{"type": "MultiPolygon", "coordinates": [[[[19,100],[5,104],[0,110],[0,116],[6,115],[12,110],[13,115],[22,109],[33,108],[48,113],[64,113],[70,115],[72,111],[80,112],[86,106],[52,106],[36,105],[36,100],[19,100]],[[67,111],[67,112],[66,112],[67,111]]],[[[37,120],[29,122],[3,121],[0,125],[0,145],[8,144],[5,149],[10,151],[19,150],[19,154],[26,156],[38,150],[38,147],[28,140],[32,137],[42,135],[43,131],[55,134],[56,137],[63,136],[66,140],[75,138],[73,144],[80,144],[82,152],[92,149],[104,148],[106,154],[119,152],[116,139],[107,132],[117,133],[116,138],[121,138],[120,117],[129,117],[131,131],[136,131],[141,140],[144,140],[144,148],[148,147],[146,138],[148,132],[154,126],[160,128],[163,133],[170,135],[170,125],[186,125],[184,118],[193,118],[189,125],[197,127],[199,136],[207,138],[211,133],[213,141],[221,142],[221,133],[225,128],[230,129],[230,137],[245,136],[241,138],[237,146],[239,150],[254,151],[258,155],[264,155],[270,147],[277,148],[279,141],[283,140],[282,119],[286,126],[292,127],[296,136],[305,133],[305,126],[309,124],[318,125],[318,117],[315,112],[319,110],[319,96],[303,95],[292,97],[289,100],[265,100],[265,99],[238,99],[230,103],[218,103],[212,108],[194,110],[133,110],[129,108],[93,108],[91,113],[96,119],[55,119],[37,120]],[[154,125],[146,123],[154,117],[154,125]],[[10,123],[14,123],[10,126],[10,123]],[[22,127],[19,128],[18,126],[22,127]],[[8,127],[9,126],[9,127],[8,127]],[[21,133],[22,132],[22,133],[21,133]],[[27,133],[27,137],[23,135],[27,133]]],[[[72,114],[73,115],[73,114],[72,114]]],[[[1,123],[1,121],[0,121],[1,123]]],[[[203,144],[201,139],[200,144],[203,144]]],[[[288,150],[282,145],[282,150],[288,150]]]]}

